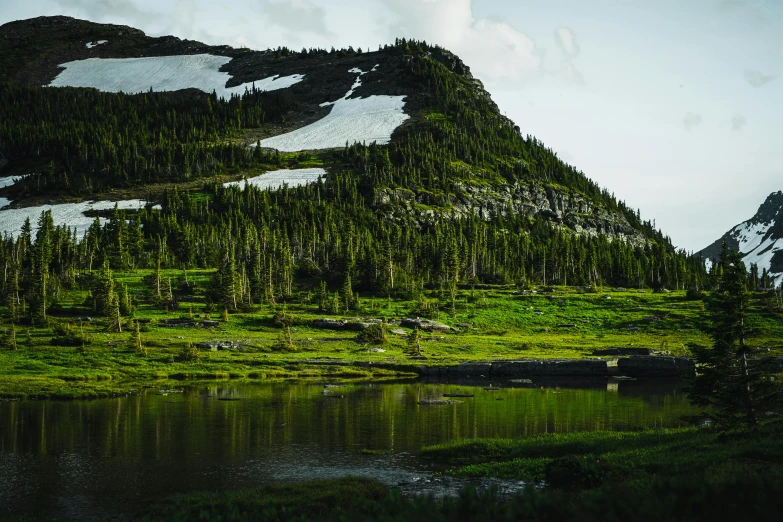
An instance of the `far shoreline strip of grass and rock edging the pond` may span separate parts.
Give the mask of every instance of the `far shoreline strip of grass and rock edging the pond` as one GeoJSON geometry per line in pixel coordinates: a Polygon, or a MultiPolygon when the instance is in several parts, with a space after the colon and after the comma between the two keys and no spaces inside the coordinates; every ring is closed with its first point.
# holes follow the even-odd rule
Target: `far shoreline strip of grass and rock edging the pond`
{"type": "MultiPolygon", "coordinates": [[[[289,366],[286,372],[252,371],[227,373],[200,368],[193,372],[171,375],[115,379],[64,379],[46,375],[0,376],[0,400],[86,400],[126,397],[141,390],[156,387],[196,385],[214,382],[296,382],[325,380],[329,382],[381,382],[388,380],[420,380],[423,382],[460,381],[489,383],[497,379],[519,381],[519,385],[535,385],[535,381],[551,379],[576,380],[584,385],[642,380],[646,382],[682,380],[695,371],[690,358],[670,356],[629,356],[605,359],[521,359],[422,364],[421,361],[374,362],[348,359],[316,359],[280,361],[289,366]],[[315,367],[315,368],[313,368],[315,367]],[[342,370],[339,370],[342,369],[342,370]]],[[[573,386],[573,383],[570,383],[573,386]]]]}

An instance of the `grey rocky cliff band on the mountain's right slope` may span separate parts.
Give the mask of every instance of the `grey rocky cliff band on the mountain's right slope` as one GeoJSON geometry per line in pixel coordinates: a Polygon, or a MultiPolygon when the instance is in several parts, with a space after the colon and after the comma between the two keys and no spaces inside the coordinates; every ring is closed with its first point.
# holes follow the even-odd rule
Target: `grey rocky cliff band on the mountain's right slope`
{"type": "Polygon", "coordinates": [[[508,214],[540,218],[579,235],[605,235],[635,246],[646,239],[618,213],[596,206],[580,194],[538,184],[477,185],[454,183],[449,194],[414,193],[408,189],[376,189],[374,204],[390,218],[426,221],[443,213],[484,219],[508,214]]]}

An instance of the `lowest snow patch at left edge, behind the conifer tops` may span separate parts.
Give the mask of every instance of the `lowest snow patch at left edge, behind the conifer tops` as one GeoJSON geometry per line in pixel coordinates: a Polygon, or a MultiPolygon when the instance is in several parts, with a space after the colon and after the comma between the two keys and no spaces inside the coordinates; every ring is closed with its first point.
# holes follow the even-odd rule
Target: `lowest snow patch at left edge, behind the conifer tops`
{"type": "MultiPolygon", "coordinates": [[[[140,199],[129,199],[125,201],[83,201],[81,203],[62,203],[58,205],[41,205],[37,207],[0,210],[0,235],[10,234],[13,237],[18,236],[22,231],[22,226],[27,218],[30,218],[30,224],[35,231],[38,226],[38,218],[41,217],[41,212],[51,210],[55,226],[68,226],[71,230],[76,230],[77,236],[82,237],[87,233],[87,229],[90,228],[92,222],[95,221],[94,217],[87,217],[84,213],[90,210],[111,210],[114,208],[115,204],[120,210],[138,210],[144,208],[147,202],[140,199]]],[[[102,224],[106,222],[106,219],[101,218],[102,224]]]]}

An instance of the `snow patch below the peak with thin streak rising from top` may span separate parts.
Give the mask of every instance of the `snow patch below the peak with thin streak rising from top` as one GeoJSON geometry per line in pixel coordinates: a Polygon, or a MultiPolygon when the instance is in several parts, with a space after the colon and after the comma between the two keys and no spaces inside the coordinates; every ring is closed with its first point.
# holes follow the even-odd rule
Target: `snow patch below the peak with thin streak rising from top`
{"type": "MultiPolygon", "coordinates": [[[[375,68],[378,66],[376,65],[375,68]]],[[[315,123],[272,138],[261,140],[262,147],[283,152],[300,150],[333,149],[345,143],[372,143],[385,145],[391,135],[410,118],[403,107],[405,96],[369,96],[352,98],[361,86],[361,77],[367,74],[361,69],[351,69],[357,74],[356,82],[344,97],[334,102],[322,103],[321,107],[332,106],[331,112],[315,123]]]]}

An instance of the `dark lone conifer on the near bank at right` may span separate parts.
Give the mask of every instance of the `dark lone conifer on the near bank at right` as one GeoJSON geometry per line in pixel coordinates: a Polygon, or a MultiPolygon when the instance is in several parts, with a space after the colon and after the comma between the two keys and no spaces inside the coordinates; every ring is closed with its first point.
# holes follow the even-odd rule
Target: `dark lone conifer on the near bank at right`
{"type": "Polygon", "coordinates": [[[780,399],[763,361],[751,360],[754,349],[747,342],[749,306],[742,256],[724,245],[719,265],[718,286],[707,301],[713,345],[694,349],[698,367],[689,397],[696,406],[710,407],[706,415],[723,429],[753,428],[759,414],[780,399]]]}

